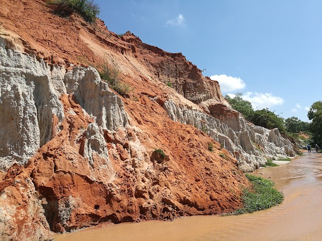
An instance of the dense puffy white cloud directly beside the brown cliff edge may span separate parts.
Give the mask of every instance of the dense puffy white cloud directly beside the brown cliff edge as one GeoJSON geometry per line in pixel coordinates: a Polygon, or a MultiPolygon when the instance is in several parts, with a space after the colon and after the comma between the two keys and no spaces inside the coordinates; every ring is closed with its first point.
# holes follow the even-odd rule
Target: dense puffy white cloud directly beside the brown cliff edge
{"type": "Polygon", "coordinates": [[[220,85],[220,89],[222,92],[234,91],[237,89],[245,88],[245,82],[239,77],[231,77],[225,74],[221,75],[212,75],[210,79],[217,80],[220,85]]]}

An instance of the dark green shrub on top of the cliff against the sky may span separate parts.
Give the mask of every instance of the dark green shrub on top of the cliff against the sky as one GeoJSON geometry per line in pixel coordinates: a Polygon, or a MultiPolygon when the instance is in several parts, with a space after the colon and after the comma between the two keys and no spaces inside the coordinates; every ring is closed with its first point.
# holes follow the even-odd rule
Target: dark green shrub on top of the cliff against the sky
{"type": "Polygon", "coordinates": [[[85,21],[92,23],[100,14],[100,7],[94,3],[94,0],[49,0],[47,3],[55,5],[54,13],[61,17],[68,17],[76,12],[85,21]]]}

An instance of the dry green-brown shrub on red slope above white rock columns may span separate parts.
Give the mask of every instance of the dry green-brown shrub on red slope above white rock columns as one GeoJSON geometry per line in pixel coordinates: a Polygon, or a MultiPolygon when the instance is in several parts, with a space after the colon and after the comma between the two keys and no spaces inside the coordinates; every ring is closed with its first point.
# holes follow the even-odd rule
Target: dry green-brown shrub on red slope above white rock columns
{"type": "Polygon", "coordinates": [[[102,80],[105,80],[109,86],[122,96],[128,96],[128,94],[134,89],[130,85],[122,83],[120,80],[120,71],[111,67],[107,62],[101,66],[102,71],[100,76],[102,80]]]}

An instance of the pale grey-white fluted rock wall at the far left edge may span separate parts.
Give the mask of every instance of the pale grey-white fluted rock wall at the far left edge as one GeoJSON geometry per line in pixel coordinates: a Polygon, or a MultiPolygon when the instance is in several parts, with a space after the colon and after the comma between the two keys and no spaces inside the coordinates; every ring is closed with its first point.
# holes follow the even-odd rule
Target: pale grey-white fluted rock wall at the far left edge
{"type": "Polygon", "coordinates": [[[24,164],[52,138],[63,106],[43,60],[5,49],[0,42],[0,169],[24,164]]]}

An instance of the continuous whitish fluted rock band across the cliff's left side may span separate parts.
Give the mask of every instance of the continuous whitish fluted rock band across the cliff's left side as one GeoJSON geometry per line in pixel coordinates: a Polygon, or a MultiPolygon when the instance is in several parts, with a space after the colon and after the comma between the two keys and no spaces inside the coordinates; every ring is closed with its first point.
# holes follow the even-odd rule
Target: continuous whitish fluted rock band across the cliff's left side
{"type": "MultiPolygon", "coordinates": [[[[121,98],[101,81],[96,69],[77,66],[66,71],[35,56],[6,49],[0,39],[1,170],[15,162],[24,165],[53,133],[59,133],[64,119],[59,100],[63,93],[72,93],[84,112],[94,118],[100,129],[95,135],[102,137],[104,130],[128,125],[121,98]],[[58,124],[53,126],[55,117],[58,124]]],[[[104,138],[97,140],[102,142],[99,146],[106,146],[104,138]]],[[[104,156],[108,157],[106,153],[104,156]]],[[[92,162],[91,155],[87,157],[92,162]]]]}

